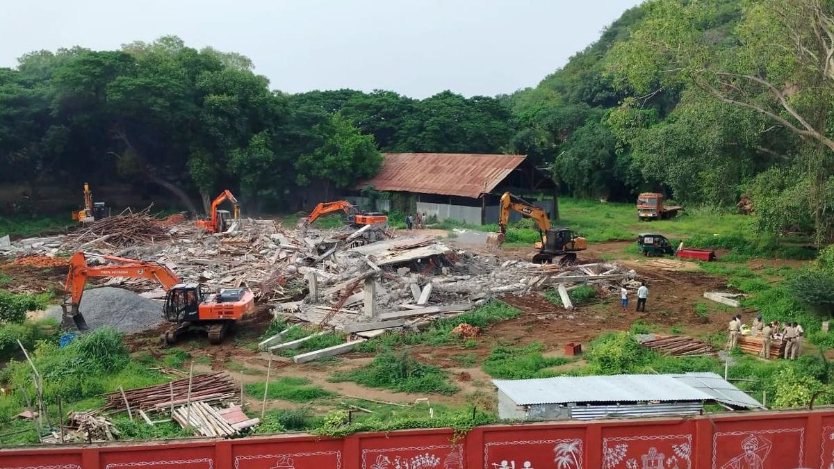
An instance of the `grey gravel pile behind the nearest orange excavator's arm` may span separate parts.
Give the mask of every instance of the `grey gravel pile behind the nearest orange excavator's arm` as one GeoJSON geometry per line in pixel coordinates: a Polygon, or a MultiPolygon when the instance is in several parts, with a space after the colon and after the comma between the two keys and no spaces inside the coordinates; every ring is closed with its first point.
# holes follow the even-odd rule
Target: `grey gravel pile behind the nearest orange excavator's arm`
{"type": "MultiPolygon", "coordinates": [[[[163,321],[161,301],[148,300],[121,288],[85,290],[78,310],[91,330],[109,325],[123,332],[141,332],[163,321]]],[[[61,320],[61,307],[53,306],[46,315],[61,320]]]]}

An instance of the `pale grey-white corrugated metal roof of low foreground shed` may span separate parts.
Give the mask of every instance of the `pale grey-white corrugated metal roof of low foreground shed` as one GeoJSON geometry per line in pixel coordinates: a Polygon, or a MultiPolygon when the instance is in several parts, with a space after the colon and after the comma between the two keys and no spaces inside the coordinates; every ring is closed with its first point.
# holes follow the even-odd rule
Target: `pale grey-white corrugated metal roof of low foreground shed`
{"type": "MultiPolygon", "coordinates": [[[[505,395],[520,406],[534,404],[567,404],[571,402],[642,402],[642,401],[726,401],[716,390],[729,393],[738,389],[712,373],[683,375],[615,375],[615,376],[557,376],[537,380],[493,380],[505,395]],[[701,379],[699,384],[712,392],[691,386],[682,378],[701,379]],[[726,384],[718,386],[713,376],[726,384]],[[710,385],[710,386],[707,386],[710,385]],[[729,386],[729,387],[727,387],[729,386]]],[[[741,391],[738,391],[741,392],[741,391]]],[[[743,394],[743,393],[741,393],[743,394]]],[[[749,396],[748,396],[749,397],[749,396]]],[[[750,398],[751,401],[752,398],[750,398]]],[[[741,404],[741,396],[731,395],[732,404],[741,404]]],[[[761,406],[756,401],[755,406],[761,406]]]]}

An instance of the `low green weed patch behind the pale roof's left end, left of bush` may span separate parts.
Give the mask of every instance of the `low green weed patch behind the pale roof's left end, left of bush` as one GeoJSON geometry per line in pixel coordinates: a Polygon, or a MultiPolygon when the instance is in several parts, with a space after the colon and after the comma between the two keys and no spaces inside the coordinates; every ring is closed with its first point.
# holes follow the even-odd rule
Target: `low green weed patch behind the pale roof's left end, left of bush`
{"type": "Polygon", "coordinates": [[[545,351],[545,345],[540,342],[533,342],[523,347],[498,345],[492,349],[490,356],[486,357],[481,368],[494,378],[523,380],[555,376],[555,373],[546,372],[545,368],[571,362],[565,357],[545,358],[541,355],[543,351],[545,351]]]}

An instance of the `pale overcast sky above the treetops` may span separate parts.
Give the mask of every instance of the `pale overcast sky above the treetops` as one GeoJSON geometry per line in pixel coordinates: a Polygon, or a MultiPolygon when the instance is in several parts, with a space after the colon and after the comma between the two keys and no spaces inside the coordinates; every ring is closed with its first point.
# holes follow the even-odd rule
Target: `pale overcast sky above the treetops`
{"type": "Polygon", "coordinates": [[[252,58],[272,88],[425,98],[536,83],[640,0],[2,0],[0,66],[165,34],[252,58]]]}

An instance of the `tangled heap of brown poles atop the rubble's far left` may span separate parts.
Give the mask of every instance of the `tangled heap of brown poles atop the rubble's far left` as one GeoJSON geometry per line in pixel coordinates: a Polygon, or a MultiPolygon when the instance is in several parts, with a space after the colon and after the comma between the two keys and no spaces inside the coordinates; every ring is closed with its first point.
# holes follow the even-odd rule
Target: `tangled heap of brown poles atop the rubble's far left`
{"type": "Polygon", "coordinates": [[[141,212],[126,212],[98,219],[86,228],[68,235],[65,245],[73,250],[91,247],[125,248],[148,245],[170,237],[165,221],[150,214],[150,207],[141,212]]]}

